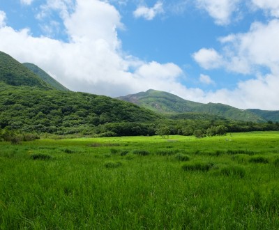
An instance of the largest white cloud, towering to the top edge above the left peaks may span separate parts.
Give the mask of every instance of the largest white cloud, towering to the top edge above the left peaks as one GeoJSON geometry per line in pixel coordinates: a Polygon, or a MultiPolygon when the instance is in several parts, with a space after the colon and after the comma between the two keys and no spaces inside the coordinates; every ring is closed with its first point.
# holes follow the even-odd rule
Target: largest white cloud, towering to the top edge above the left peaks
{"type": "Polygon", "coordinates": [[[179,83],[183,71],[174,63],[148,63],[123,54],[117,36],[121,16],[114,6],[78,0],[74,8],[66,8],[66,1],[49,0],[41,10],[63,11],[69,42],[6,26],[0,29],[0,50],[21,62],[35,63],[73,91],[119,96],[147,89],[188,90],[179,83]]]}

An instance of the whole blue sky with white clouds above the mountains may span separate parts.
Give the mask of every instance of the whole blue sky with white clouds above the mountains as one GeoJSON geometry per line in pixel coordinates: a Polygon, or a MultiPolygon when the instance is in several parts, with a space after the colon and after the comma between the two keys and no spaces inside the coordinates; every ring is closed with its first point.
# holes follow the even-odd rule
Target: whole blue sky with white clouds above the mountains
{"type": "Polygon", "coordinates": [[[72,91],[279,110],[279,0],[0,0],[0,50],[72,91]]]}

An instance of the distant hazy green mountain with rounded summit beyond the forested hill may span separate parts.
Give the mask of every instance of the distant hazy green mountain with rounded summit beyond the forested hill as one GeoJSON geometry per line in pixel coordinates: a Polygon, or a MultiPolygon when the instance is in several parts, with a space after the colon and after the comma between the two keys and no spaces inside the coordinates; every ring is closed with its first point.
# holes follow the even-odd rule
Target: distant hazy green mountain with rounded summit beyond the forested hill
{"type": "Polygon", "coordinates": [[[150,89],[146,92],[130,94],[119,97],[119,100],[133,102],[154,112],[161,114],[181,114],[181,113],[202,113],[223,116],[227,119],[239,121],[266,121],[260,114],[249,110],[237,109],[223,104],[208,103],[202,104],[179,98],[179,96],[163,91],[150,89]]]}

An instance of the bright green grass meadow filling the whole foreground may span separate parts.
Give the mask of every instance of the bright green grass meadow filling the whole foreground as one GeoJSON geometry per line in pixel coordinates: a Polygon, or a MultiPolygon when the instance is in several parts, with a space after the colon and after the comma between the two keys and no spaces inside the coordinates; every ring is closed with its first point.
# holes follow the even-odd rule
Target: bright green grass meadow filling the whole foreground
{"type": "Polygon", "coordinates": [[[0,229],[279,229],[279,132],[0,142],[0,229]]]}

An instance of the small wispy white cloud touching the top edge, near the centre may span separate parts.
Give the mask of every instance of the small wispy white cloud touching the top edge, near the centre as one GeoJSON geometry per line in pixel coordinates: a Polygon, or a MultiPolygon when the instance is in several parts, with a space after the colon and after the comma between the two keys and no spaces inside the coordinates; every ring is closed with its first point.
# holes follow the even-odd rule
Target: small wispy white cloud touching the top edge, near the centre
{"type": "Polygon", "coordinates": [[[157,3],[148,8],[146,6],[140,6],[133,12],[134,17],[143,17],[145,20],[153,20],[156,15],[164,13],[163,2],[157,1],[157,3]]]}

